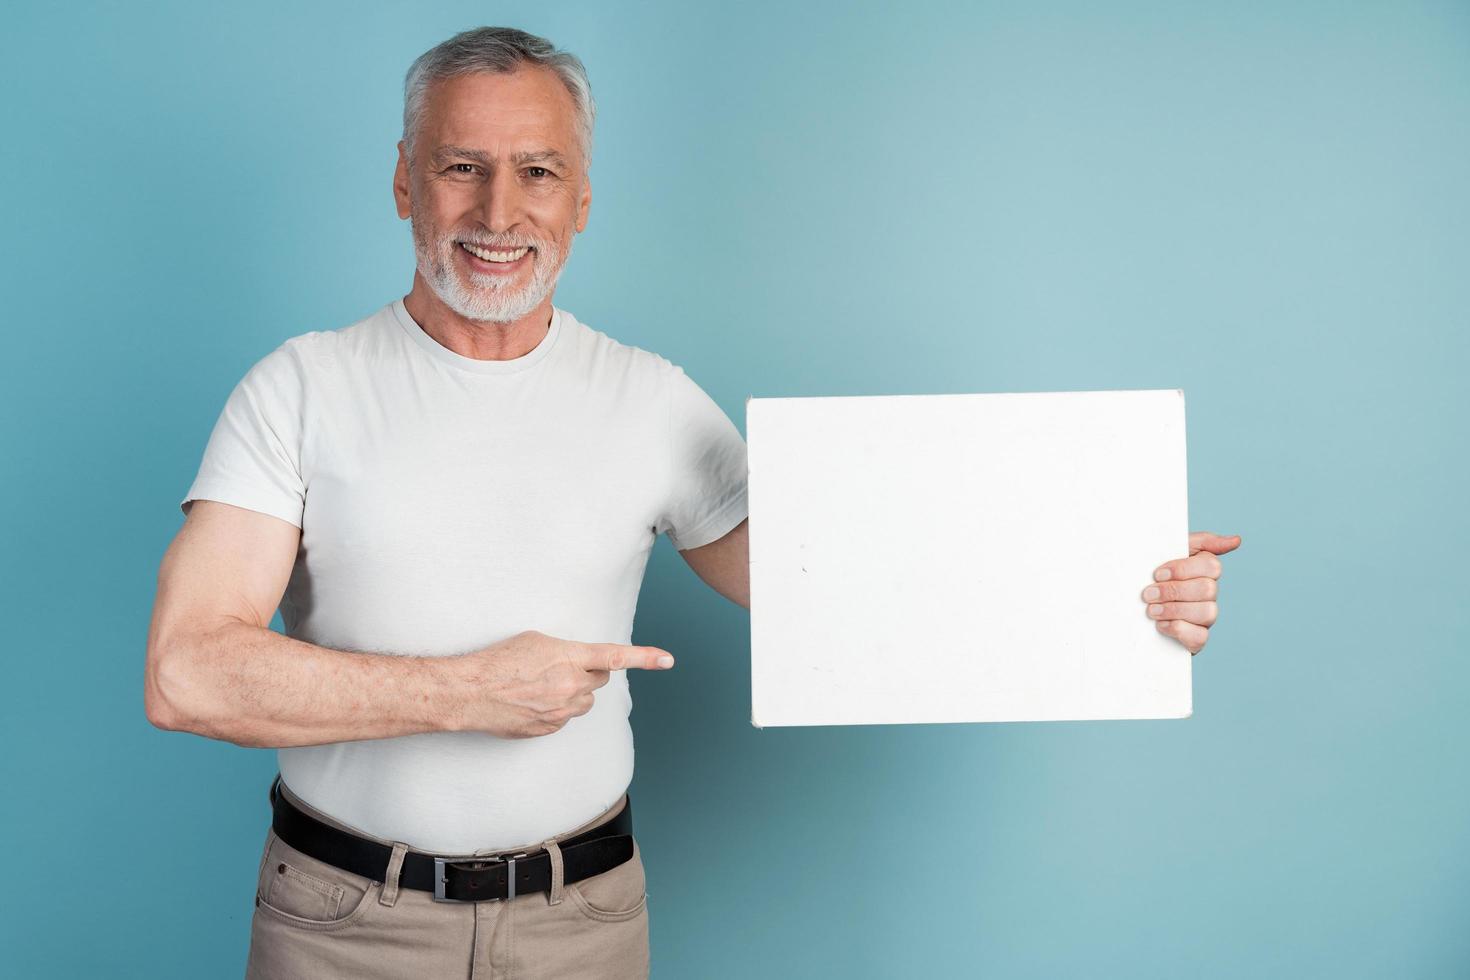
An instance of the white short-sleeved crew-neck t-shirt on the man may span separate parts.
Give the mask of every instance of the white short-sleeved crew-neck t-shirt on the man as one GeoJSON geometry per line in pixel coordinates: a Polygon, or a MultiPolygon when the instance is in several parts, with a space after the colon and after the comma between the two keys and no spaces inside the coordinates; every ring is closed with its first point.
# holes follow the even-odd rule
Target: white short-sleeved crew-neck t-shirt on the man
{"type": "MultiPolygon", "coordinates": [[[[681,367],[553,310],[535,350],[475,360],[395,300],[293,336],[231,392],[181,502],[291,522],[285,632],[451,655],[526,629],[632,641],[659,533],[679,550],[745,519],[745,442],[681,367]]],[[[447,854],[539,842],[628,789],[628,676],[553,735],[425,732],[281,748],[337,820],[447,854]]]]}

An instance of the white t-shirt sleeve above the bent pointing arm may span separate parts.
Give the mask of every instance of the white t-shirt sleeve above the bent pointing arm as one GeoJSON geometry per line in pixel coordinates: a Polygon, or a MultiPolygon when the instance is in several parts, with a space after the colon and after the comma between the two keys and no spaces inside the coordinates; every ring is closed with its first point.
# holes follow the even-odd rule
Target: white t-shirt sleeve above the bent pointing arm
{"type": "Polygon", "coordinates": [[[301,361],[290,344],[260,359],[229,392],[179,508],[218,500],[301,526],[301,361]]]}

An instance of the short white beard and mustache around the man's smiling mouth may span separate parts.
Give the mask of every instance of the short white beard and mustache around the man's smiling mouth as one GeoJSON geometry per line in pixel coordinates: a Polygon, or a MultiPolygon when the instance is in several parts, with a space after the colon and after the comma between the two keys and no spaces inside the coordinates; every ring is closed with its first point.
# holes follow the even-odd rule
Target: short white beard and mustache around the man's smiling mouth
{"type": "Polygon", "coordinates": [[[470,235],[441,235],[432,244],[419,235],[419,223],[409,220],[413,229],[413,254],[419,263],[419,275],[434,294],[448,309],[454,310],[466,320],[484,320],[490,323],[510,323],[535,310],[562,275],[562,266],[572,257],[572,242],[567,241],[566,256],[551,239],[520,238],[520,241],[488,241],[470,235]],[[456,238],[465,238],[476,245],[497,248],[517,248],[531,245],[535,251],[531,256],[531,282],[516,288],[510,285],[509,276],[494,273],[470,272],[470,282],[466,285],[457,270],[459,259],[456,251],[465,251],[456,244],[456,238]]]}

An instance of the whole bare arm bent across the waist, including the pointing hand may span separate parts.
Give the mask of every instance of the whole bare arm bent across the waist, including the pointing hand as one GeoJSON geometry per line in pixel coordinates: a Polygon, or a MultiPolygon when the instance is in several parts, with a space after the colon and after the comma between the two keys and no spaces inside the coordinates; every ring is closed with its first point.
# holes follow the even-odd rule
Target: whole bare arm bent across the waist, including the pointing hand
{"type": "Polygon", "coordinates": [[[551,735],[592,710],[609,671],[667,670],[659,646],[523,630],[453,657],[329,649],[270,617],[301,542],[295,525],[196,500],[163,555],[148,627],[148,721],[250,748],[416,732],[551,735]]]}

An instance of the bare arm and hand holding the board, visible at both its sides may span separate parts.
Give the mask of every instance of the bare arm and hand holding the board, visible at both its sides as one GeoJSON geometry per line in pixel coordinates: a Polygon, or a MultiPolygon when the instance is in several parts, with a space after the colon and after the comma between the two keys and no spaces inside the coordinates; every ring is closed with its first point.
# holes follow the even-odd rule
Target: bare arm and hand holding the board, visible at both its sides
{"type": "MultiPolygon", "coordinates": [[[[1166,561],[1141,598],[1158,630],[1173,636],[1191,654],[1204,649],[1210,627],[1220,616],[1217,555],[1241,547],[1239,535],[1197,530],[1189,535],[1189,557],[1166,561]]],[[[750,519],[717,541],[679,552],[706,585],[731,602],[750,608],[750,519]]]]}

